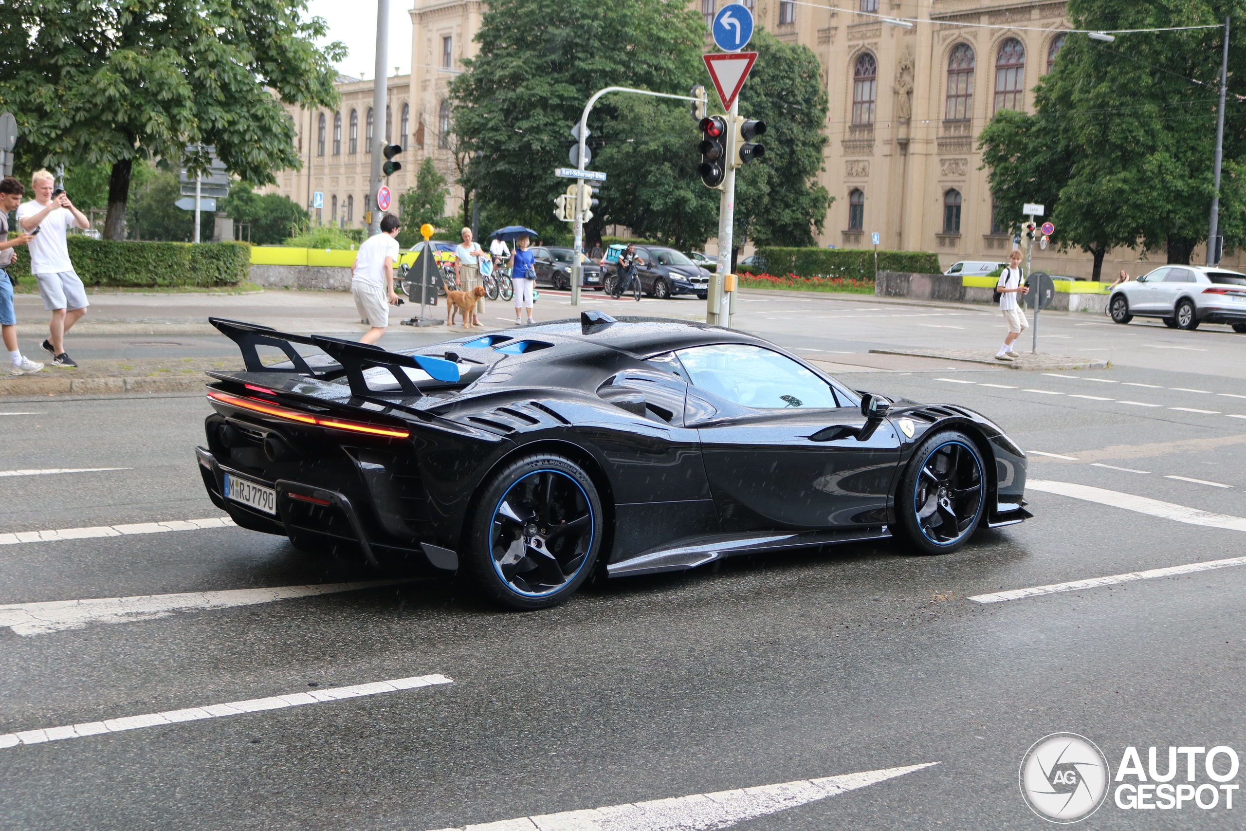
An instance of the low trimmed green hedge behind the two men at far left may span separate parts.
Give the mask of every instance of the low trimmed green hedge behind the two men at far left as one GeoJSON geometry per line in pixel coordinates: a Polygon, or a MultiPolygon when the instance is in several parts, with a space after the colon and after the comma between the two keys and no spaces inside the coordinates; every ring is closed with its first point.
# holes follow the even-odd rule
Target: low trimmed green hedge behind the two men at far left
{"type": "MultiPolygon", "coordinates": [[[[69,238],[74,270],[87,285],[237,285],[250,273],[245,243],[142,243],[69,238]]],[[[14,278],[30,275],[30,254],[17,248],[7,269],[14,278]]]]}

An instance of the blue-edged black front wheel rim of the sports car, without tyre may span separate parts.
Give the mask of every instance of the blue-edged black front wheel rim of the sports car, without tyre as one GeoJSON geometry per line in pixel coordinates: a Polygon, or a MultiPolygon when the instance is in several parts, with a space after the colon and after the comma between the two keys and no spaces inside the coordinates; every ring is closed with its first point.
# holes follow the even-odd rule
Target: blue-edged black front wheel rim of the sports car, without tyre
{"type": "Polygon", "coordinates": [[[922,536],[936,546],[964,539],[982,513],[984,482],[978,451],[963,441],[944,441],[926,453],[913,486],[913,513],[922,536]]]}

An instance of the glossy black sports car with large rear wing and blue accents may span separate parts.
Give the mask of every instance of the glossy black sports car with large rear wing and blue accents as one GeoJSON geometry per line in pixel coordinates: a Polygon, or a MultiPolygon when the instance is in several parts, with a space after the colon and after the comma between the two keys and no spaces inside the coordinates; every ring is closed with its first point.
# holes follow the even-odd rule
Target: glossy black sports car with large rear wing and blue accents
{"type": "Polygon", "coordinates": [[[217,506],[304,551],[466,568],[516,608],[594,569],[892,534],[936,554],[1030,516],[1025,455],[982,415],[893,406],[730,329],[586,311],[389,353],[212,323],[247,366],[211,374],[217,506]]]}

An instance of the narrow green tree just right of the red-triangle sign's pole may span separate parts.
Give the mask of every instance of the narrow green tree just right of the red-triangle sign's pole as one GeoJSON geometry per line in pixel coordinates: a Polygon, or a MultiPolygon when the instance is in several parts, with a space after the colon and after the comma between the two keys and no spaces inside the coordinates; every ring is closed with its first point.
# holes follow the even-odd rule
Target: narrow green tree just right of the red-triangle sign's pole
{"type": "Polygon", "coordinates": [[[766,122],[765,156],[736,171],[731,259],[756,245],[816,245],[832,199],[817,183],[826,147],[827,97],[821,65],[807,46],[784,44],[764,29],[749,49],[758,61],[740,91],[740,115],[766,122]]]}

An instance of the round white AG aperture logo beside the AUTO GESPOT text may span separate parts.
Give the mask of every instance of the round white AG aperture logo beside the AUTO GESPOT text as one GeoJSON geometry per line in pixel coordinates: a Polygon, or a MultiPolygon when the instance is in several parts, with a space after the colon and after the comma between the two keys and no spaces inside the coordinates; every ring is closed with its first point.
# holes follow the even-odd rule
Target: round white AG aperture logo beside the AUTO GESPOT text
{"type": "Polygon", "coordinates": [[[1020,795],[1044,820],[1080,822],[1108,796],[1108,759],[1085,736],[1053,733],[1043,736],[1020,762],[1020,795]]]}

